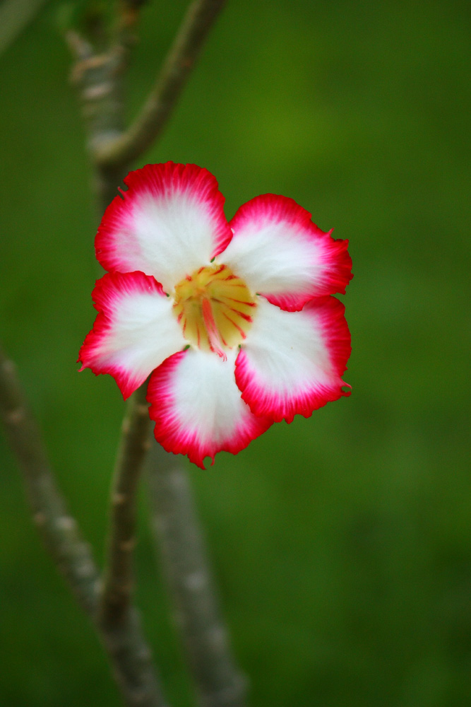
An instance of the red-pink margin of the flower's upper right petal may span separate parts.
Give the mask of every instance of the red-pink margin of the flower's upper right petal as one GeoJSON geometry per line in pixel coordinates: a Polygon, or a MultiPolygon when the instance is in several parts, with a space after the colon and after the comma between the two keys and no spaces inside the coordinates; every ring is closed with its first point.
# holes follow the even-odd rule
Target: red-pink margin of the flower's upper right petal
{"type": "Polygon", "coordinates": [[[345,294],[345,288],[352,279],[352,259],[348,254],[348,240],[331,237],[333,228],[327,233],[312,221],[312,214],[294,199],[283,197],[279,194],[261,194],[254,199],[246,201],[239,207],[229,226],[234,232],[243,232],[251,226],[276,225],[285,223],[287,228],[287,247],[289,248],[290,231],[301,237],[306,244],[306,255],[300,266],[309,263],[309,245],[315,247],[316,257],[312,265],[321,268],[319,274],[310,284],[300,279],[299,291],[286,293],[270,293],[261,290],[261,294],[269,302],[278,305],[280,309],[290,312],[301,310],[306,302],[313,297],[323,297],[335,293],[345,294]]]}

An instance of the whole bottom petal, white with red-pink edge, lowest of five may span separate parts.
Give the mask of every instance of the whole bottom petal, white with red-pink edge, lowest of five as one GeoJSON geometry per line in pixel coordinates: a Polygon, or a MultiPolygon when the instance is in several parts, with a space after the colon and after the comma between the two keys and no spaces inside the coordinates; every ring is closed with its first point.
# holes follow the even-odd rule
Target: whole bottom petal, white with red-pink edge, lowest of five
{"type": "Polygon", "coordinates": [[[227,361],[188,349],[174,354],[154,371],[148,385],[155,438],[167,452],[186,454],[204,469],[205,457],[237,454],[265,432],[271,421],[255,416],[234,380],[237,351],[227,361]]]}

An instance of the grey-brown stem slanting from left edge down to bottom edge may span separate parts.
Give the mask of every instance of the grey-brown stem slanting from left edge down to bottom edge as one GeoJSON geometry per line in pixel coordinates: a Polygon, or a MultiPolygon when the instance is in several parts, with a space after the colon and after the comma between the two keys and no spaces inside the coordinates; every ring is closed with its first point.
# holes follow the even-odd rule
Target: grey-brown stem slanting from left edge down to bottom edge
{"type": "Polygon", "coordinates": [[[49,554],[78,604],[97,629],[128,707],[165,707],[138,612],[106,624],[98,612],[100,576],[90,547],[57,489],[40,429],[20,386],[16,368],[0,348],[0,413],[8,443],[25,481],[32,515],[49,554]]]}

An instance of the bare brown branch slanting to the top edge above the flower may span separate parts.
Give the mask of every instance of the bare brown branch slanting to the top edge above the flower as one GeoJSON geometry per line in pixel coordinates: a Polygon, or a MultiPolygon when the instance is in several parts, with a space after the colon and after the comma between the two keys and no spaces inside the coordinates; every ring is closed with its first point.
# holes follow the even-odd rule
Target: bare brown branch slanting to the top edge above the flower
{"type": "Polygon", "coordinates": [[[165,127],[225,0],[194,0],[140,115],[121,136],[95,144],[100,168],[126,171],[165,127]]]}

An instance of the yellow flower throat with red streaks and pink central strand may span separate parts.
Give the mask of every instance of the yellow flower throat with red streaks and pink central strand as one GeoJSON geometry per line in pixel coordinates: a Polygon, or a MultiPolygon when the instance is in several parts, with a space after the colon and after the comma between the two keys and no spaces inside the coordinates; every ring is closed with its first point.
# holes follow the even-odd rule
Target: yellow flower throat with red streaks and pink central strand
{"type": "Polygon", "coordinates": [[[206,265],[175,286],[173,312],[190,344],[225,351],[245,339],[256,308],[244,280],[227,265],[206,265]]]}

